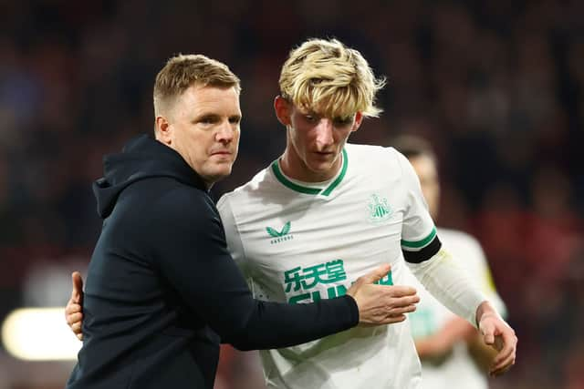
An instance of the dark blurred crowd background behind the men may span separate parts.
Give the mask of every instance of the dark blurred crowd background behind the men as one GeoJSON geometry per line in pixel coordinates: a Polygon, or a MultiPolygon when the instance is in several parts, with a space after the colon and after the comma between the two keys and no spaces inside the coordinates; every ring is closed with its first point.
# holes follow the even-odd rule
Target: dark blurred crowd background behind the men
{"type": "MultiPolygon", "coordinates": [[[[272,102],[289,49],[338,37],[388,79],[381,118],[352,141],[429,139],[438,224],[484,245],[519,336],[492,387],[584,388],[584,2],[167,3],[0,0],[0,322],[67,302],[99,234],[90,184],[104,154],[151,131],[169,56],[202,53],[242,79],[240,154],[218,199],[284,148],[272,102]]],[[[225,346],[216,388],[261,388],[256,358],[225,346]]],[[[2,388],[60,388],[71,367],[0,346],[2,388]]]]}

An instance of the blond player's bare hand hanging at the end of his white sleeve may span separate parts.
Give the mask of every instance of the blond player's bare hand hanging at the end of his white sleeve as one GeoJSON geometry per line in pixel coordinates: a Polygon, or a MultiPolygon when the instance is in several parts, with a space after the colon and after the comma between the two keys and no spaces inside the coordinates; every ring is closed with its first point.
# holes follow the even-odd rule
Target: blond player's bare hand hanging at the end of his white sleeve
{"type": "Polygon", "coordinates": [[[481,303],[476,312],[478,329],[485,344],[498,352],[491,363],[489,374],[491,376],[504,374],[515,364],[517,348],[515,331],[488,302],[481,303]]]}

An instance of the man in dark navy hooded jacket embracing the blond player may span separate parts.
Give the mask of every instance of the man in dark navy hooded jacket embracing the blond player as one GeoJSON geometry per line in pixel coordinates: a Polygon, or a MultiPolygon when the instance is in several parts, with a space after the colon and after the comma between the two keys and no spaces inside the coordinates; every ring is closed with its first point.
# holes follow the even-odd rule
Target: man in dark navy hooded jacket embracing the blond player
{"type": "Polygon", "coordinates": [[[155,138],[135,138],[104,159],[104,177],[94,184],[104,221],[68,388],[212,388],[220,341],[280,348],[359,322],[401,321],[415,309],[412,288],[397,296],[371,284],[389,266],[336,299],[253,299],[208,193],[237,155],[239,92],[224,64],[172,57],[154,85],[155,138]]]}

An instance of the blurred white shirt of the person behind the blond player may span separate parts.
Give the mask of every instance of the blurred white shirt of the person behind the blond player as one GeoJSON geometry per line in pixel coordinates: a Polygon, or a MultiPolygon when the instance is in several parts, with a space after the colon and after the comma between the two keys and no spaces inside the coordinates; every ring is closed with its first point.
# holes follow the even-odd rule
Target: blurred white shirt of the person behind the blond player
{"type": "MultiPolygon", "coordinates": [[[[495,290],[488,263],[480,244],[472,236],[457,230],[438,229],[443,248],[453,255],[461,267],[477,282],[485,296],[493,303],[497,312],[505,311],[505,305],[495,290]]],[[[410,324],[414,339],[437,333],[443,325],[454,318],[418,280],[411,275],[412,285],[420,295],[416,312],[410,313],[410,324]]],[[[453,353],[445,360],[422,361],[422,388],[424,389],[486,389],[485,372],[481,372],[468,353],[465,343],[454,345],[453,353]]]]}

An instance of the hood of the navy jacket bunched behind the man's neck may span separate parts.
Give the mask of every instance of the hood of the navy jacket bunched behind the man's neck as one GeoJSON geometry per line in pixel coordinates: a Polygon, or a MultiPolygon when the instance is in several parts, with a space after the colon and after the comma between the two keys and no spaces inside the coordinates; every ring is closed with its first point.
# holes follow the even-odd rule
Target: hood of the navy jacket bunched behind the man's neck
{"type": "Polygon", "coordinates": [[[170,177],[186,185],[207,190],[203,179],[172,148],[149,135],[133,138],[119,154],[103,159],[104,177],[93,183],[98,213],[107,218],[123,189],[141,179],[170,177]]]}

